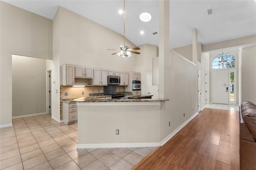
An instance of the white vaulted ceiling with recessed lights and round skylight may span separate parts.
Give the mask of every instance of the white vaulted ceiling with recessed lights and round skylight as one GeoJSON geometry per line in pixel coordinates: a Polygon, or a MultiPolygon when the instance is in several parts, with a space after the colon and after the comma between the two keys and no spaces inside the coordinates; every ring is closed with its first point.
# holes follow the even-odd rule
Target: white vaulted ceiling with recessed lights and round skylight
{"type": "MultiPolygon", "coordinates": [[[[119,34],[124,34],[123,0],[2,0],[53,19],[62,6],[119,34]]],[[[158,0],[126,0],[126,38],[135,45],[158,46],[158,0]],[[142,22],[142,12],[151,14],[142,22]],[[140,34],[144,31],[144,34],[140,34]]],[[[170,48],[192,44],[192,29],[203,45],[256,34],[255,0],[170,0],[170,48]],[[208,15],[211,9],[213,14],[208,15]]]]}

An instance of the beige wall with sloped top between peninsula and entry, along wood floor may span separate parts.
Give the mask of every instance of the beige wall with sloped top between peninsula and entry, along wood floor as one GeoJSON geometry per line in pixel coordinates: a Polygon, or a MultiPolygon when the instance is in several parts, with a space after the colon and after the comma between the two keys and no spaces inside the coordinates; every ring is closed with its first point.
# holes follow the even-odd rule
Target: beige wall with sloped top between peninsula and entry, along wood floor
{"type": "Polygon", "coordinates": [[[165,62],[164,97],[170,101],[161,111],[161,139],[197,113],[197,66],[172,50],[165,62]]]}

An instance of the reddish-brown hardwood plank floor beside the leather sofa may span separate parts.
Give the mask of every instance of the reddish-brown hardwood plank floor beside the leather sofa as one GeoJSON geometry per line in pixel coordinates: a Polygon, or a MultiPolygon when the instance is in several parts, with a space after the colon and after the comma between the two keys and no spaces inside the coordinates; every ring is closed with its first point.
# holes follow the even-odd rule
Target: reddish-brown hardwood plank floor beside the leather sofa
{"type": "Polygon", "coordinates": [[[238,112],[205,108],[136,170],[239,170],[238,112]]]}

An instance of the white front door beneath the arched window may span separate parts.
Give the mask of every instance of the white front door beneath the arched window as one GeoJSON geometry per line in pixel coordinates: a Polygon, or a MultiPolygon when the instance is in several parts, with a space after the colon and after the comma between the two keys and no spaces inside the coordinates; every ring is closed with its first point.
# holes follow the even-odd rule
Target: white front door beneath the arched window
{"type": "Polygon", "coordinates": [[[212,103],[228,104],[228,70],[212,71],[212,103]]]}

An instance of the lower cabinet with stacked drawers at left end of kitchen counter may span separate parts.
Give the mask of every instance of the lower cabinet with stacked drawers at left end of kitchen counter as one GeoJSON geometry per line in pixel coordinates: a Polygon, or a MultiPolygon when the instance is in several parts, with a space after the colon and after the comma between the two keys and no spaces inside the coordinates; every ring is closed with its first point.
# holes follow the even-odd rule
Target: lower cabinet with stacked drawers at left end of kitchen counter
{"type": "Polygon", "coordinates": [[[77,106],[76,103],[62,103],[63,122],[67,125],[76,123],[77,106]]]}

